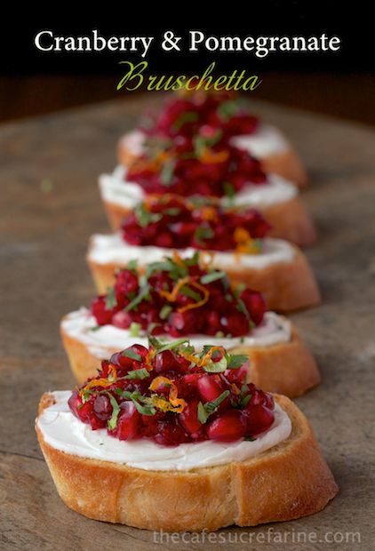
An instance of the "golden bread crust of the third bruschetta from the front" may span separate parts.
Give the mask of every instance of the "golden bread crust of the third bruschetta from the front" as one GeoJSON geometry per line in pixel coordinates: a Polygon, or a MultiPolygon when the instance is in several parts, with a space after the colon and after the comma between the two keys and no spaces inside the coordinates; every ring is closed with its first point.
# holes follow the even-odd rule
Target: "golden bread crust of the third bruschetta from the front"
{"type": "MultiPolygon", "coordinates": [[[[100,294],[105,293],[108,286],[115,283],[116,269],[122,266],[116,263],[99,264],[93,261],[90,259],[90,248],[87,262],[97,290],[100,294]]],[[[235,264],[235,255],[233,264],[235,264]]],[[[212,260],[212,266],[217,266],[215,259],[212,260]]],[[[266,297],[269,310],[291,312],[316,306],[321,301],[315,276],[306,257],[297,247],[295,247],[294,260],[291,262],[279,262],[264,269],[233,269],[232,265],[226,267],[220,265],[218,268],[225,269],[231,280],[245,283],[247,287],[262,292],[266,297]]]]}

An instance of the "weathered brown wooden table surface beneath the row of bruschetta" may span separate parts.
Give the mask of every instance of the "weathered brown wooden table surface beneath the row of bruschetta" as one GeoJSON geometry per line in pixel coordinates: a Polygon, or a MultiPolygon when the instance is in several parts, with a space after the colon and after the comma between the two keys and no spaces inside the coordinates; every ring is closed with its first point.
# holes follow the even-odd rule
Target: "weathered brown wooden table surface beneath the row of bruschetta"
{"type": "MultiPolygon", "coordinates": [[[[1,549],[221,547],[207,535],[205,541],[185,537],[160,543],[153,532],[70,511],[55,491],[34,433],[40,395],[75,384],[60,345],[59,321],[87,304],[94,292],[84,252],[92,232],[108,231],[97,176],[113,168],[116,140],[151,101],[158,99],[130,98],[0,127],[1,549]]],[[[223,530],[222,548],[370,549],[375,132],[266,103],[254,102],[254,108],[288,133],[313,179],[303,195],[320,240],[307,254],[323,305],[293,315],[293,321],[315,353],[323,383],[298,403],[315,428],[340,492],[317,515],[223,530]],[[346,532],[360,532],[361,543],[352,543],[357,536],[346,532]],[[336,543],[325,542],[326,537],[336,543]],[[291,543],[293,538],[300,542],[291,543]]]]}

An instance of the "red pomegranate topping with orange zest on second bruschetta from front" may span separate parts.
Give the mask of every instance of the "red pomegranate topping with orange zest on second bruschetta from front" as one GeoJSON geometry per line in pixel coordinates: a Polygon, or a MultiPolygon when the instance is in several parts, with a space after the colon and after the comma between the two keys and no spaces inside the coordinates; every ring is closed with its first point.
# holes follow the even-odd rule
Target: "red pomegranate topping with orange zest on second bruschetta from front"
{"type": "MultiPolygon", "coordinates": [[[[117,273],[108,294],[92,303],[92,315],[99,326],[113,324],[129,329],[134,337],[140,331],[172,337],[197,333],[241,337],[262,323],[266,309],[259,292],[231,284],[225,272],[204,266],[198,253],[183,260],[176,252],[148,265],[146,274],[139,274],[136,264],[130,263],[117,273]],[[132,291],[127,291],[124,282],[131,280],[132,291]]],[[[145,354],[145,350],[138,352],[142,357],[145,354]]],[[[122,356],[119,361],[124,367],[132,362],[122,356]]],[[[158,355],[155,370],[168,371],[172,367],[167,366],[181,362],[183,358],[165,351],[158,355]]],[[[180,365],[180,371],[186,368],[180,365]]]]}

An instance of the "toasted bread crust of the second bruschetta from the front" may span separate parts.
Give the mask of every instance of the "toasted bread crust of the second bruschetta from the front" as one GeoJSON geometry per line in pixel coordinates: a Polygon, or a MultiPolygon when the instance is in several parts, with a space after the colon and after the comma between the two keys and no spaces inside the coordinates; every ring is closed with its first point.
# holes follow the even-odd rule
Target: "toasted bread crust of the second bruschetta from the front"
{"type": "MultiPolygon", "coordinates": [[[[71,370],[82,385],[86,379],[97,374],[100,358],[92,355],[84,342],[68,335],[62,326],[60,332],[71,370]]],[[[248,382],[267,392],[295,398],[320,383],[315,359],[293,325],[290,342],[270,347],[228,347],[228,350],[249,356],[251,371],[248,382]]],[[[107,357],[117,352],[116,348],[111,347],[107,347],[107,351],[107,357]]]]}

